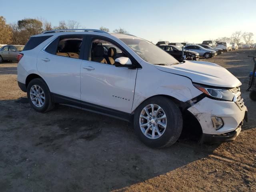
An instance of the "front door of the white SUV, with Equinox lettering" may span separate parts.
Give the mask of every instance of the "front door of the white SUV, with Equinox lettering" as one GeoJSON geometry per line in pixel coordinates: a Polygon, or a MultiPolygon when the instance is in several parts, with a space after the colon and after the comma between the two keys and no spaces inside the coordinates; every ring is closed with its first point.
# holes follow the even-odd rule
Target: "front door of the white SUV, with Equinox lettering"
{"type": "Polygon", "coordinates": [[[116,67],[111,58],[128,57],[113,42],[91,37],[81,65],[81,100],[131,113],[137,69],[116,67]],[[108,53],[104,53],[104,48],[108,53]]]}

